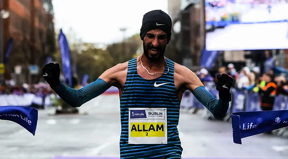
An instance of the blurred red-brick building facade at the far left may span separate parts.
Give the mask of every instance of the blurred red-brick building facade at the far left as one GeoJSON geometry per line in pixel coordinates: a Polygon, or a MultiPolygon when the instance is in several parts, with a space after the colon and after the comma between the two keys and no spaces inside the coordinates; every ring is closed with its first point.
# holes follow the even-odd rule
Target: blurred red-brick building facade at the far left
{"type": "MultiPolygon", "coordinates": [[[[5,78],[15,75],[14,67],[21,66],[20,83],[35,83],[46,58],[55,51],[52,0],[4,0],[3,8],[10,13],[3,20],[4,53],[7,42],[13,39],[12,50],[5,66],[5,78]],[[45,7],[45,8],[44,8],[45,7]],[[30,66],[38,68],[31,73],[30,66]]],[[[19,81],[18,81],[19,82],[19,81]]]]}

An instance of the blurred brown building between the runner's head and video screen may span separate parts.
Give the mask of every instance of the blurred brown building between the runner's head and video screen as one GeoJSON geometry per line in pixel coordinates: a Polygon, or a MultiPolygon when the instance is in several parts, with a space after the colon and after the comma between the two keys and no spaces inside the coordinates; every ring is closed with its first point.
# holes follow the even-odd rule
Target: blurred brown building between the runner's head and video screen
{"type": "Polygon", "coordinates": [[[199,3],[191,0],[168,0],[168,14],[173,25],[171,43],[173,51],[177,52],[175,61],[190,69],[199,66],[201,40],[204,40],[201,38],[199,3]]]}

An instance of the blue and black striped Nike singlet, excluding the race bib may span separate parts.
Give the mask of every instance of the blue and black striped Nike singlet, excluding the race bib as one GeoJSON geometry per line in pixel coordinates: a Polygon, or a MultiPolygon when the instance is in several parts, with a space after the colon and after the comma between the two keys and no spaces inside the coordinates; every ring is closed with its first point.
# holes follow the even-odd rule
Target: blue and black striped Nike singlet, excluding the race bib
{"type": "MultiPolygon", "coordinates": [[[[120,99],[121,137],[120,157],[123,158],[181,158],[182,147],[177,125],[180,102],[174,85],[174,62],[166,58],[169,72],[156,79],[144,79],[137,73],[137,58],[129,60],[127,78],[120,99]],[[154,83],[168,83],[154,87],[154,83]],[[168,144],[128,144],[129,108],[167,108],[168,144]]],[[[164,72],[168,68],[165,66],[164,72]]]]}

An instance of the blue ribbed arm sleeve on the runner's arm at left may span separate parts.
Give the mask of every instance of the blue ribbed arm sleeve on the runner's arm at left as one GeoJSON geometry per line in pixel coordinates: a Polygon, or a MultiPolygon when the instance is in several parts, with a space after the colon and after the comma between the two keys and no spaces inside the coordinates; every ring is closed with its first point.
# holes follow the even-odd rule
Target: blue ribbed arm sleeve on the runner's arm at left
{"type": "Polygon", "coordinates": [[[104,93],[107,90],[107,83],[103,79],[98,78],[96,81],[77,90],[60,82],[53,90],[71,107],[80,107],[87,101],[104,93]]]}

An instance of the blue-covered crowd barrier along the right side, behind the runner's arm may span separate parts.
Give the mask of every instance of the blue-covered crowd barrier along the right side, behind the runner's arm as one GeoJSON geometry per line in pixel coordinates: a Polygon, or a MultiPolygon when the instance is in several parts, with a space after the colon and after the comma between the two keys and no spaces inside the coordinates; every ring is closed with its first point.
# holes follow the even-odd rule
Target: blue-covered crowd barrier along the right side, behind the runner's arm
{"type": "MultiPolygon", "coordinates": [[[[215,98],[219,99],[218,91],[216,88],[210,88],[207,90],[215,98]]],[[[231,94],[232,101],[229,103],[228,113],[224,117],[224,121],[230,121],[231,114],[234,112],[262,110],[260,107],[260,96],[258,93],[254,93],[252,90],[240,90],[231,88],[231,94]]],[[[182,113],[193,113],[196,109],[201,110],[198,111],[198,113],[200,113],[200,115],[202,115],[204,118],[215,119],[213,114],[210,113],[206,108],[204,109],[204,106],[194,97],[190,91],[184,92],[180,104],[180,111],[182,113]]],[[[283,95],[276,96],[273,110],[288,110],[288,97],[283,95]]],[[[274,130],[273,133],[277,134],[278,136],[288,137],[288,127],[274,130]]]]}

